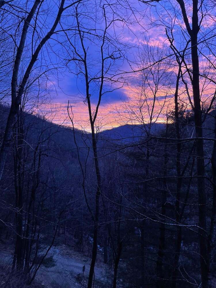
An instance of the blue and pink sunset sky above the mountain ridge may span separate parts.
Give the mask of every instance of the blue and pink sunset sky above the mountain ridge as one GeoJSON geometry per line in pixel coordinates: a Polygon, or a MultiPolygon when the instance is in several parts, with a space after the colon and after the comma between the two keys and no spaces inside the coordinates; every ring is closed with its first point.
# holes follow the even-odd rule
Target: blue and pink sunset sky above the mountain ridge
{"type": "MultiPolygon", "coordinates": [[[[50,3],[54,1],[44,2],[43,5],[50,3]]],[[[185,1],[190,16],[191,3],[192,1],[185,1]]],[[[55,12],[55,7],[53,9],[55,12]]],[[[101,84],[102,47],[105,58],[103,96],[96,120],[97,127],[104,130],[124,124],[165,122],[166,116],[170,115],[174,107],[173,95],[178,71],[166,33],[169,37],[173,35],[173,43],[179,51],[185,48],[189,39],[177,1],[161,0],[147,5],[136,0],[110,0],[109,3],[106,0],[83,0],[77,6],[77,11],[83,43],[77,32],[75,9],[71,7],[64,12],[56,34],[46,49],[43,49],[42,60],[36,67],[51,69],[44,90],[48,90],[52,101],[44,101],[35,111],[45,114],[55,123],[71,125],[67,111],[69,101],[74,126],[90,130],[83,73],[85,68],[82,62],[83,44],[86,50],[92,114],[98,103],[101,84]],[[159,61],[161,59],[163,60],[159,61]]],[[[203,2],[203,11],[207,13],[204,14],[199,33],[200,84],[203,101],[211,101],[216,83],[216,11],[209,1],[203,2]]],[[[38,16],[41,17],[38,18],[38,23],[45,23],[41,30],[44,29],[44,34],[53,22],[54,12],[38,16]]],[[[189,17],[191,23],[190,19],[189,17]]],[[[31,40],[30,35],[26,41],[30,43],[31,40]]],[[[37,41],[35,38],[35,47],[37,41]]],[[[185,60],[190,70],[190,44],[185,60]]],[[[38,73],[36,68],[34,73],[38,73]]],[[[181,82],[179,102],[190,109],[190,79],[185,67],[182,67],[182,71],[187,89],[185,83],[181,82]]]]}

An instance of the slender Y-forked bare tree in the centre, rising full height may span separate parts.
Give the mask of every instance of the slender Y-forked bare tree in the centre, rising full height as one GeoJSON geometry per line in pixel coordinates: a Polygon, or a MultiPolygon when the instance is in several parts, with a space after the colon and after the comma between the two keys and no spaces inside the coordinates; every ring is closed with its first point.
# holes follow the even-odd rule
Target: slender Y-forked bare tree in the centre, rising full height
{"type": "MultiPolygon", "coordinates": [[[[85,83],[83,95],[89,115],[91,153],[93,153],[96,175],[94,212],[91,211],[87,202],[94,223],[92,261],[88,278],[88,288],[91,288],[97,255],[100,197],[102,192],[101,169],[97,149],[97,117],[103,97],[105,97],[108,92],[118,89],[124,84],[124,80],[120,77],[115,77],[115,61],[123,57],[124,51],[120,48],[121,45],[118,43],[118,38],[115,37],[115,33],[113,34],[117,23],[124,22],[124,20],[115,17],[115,5],[108,3],[96,3],[93,5],[91,2],[89,2],[89,4],[91,4],[91,11],[88,8],[89,6],[86,6],[86,3],[79,3],[75,6],[75,28],[71,28],[71,31],[75,30],[75,33],[73,32],[73,38],[66,29],[63,29],[71,45],[70,49],[73,55],[71,60],[76,64],[76,75],[81,77],[85,83]],[[100,13],[96,14],[96,10],[97,12],[100,10],[100,13]],[[95,19],[93,20],[92,18],[95,19]],[[88,27],[86,26],[86,19],[88,19],[88,27]],[[97,26],[98,21],[103,23],[101,28],[97,26]],[[91,50],[92,48],[89,47],[90,45],[96,50],[94,54],[91,50]],[[96,55],[97,58],[93,55],[96,55]],[[94,68],[96,68],[96,72],[92,69],[92,58],[95,61],[94,68]],[[92,98],[95,100],[92,100],[92,98]]],[[[72,118],[71,120],[74,121],[72,118]]],[[[85,180],[83,182],[85,193],[84,186],[85,180]]]]}

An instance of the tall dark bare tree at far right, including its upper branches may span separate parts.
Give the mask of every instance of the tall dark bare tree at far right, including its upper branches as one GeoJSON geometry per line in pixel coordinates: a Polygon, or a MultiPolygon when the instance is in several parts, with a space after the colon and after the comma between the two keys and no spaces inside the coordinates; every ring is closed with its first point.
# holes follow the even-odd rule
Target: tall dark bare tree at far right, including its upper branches
{"type": "MultiPolygon", "coordinates": [[[[181,9],[181,17],[184,23],[184,27],[181,29],[185,32],[187,31],[187,38],[188,43],[190,43],[190,54],[189,59],[190,62],[188,62],[188,59],[186,60],[185,52],[182,54],[182,52],[178,52],[178,49],[176,48],[175,44],[173,42],[175,41],[176,37],[173,36],[173,30],[172,27],[168,27],[166,31],[168,35],[171,35],[169,40],[171,44],[172,51],[176,53],[177,61],[179,62],[179,66],[181,69],[181,73],[183,73],[183,69],[186,69],[186,73],[188,74],[188,78],[190,79],[188,82],[185,81],[183,74],[182,74],[182,81],[186,85],[186,89],[188,89],[188,86],[190,87],[190,91],[187,90],[187,95],[189,97],[190,105],[194,113],[194,127],[195,127],[195,133],[196,138],[194,145],[196,147],[196,169],[197,169],[197,191],[198,191],[198,226],[199,228],[199,254],[200,254],[200,271],[201,271],[201,280],[202,280],[202,287],[211,287],[211,283],[209,283],[209,254],[208,254],[208,238],[211,234],[208,234],[209,231],[209,225],[208,223],[208,205],[206,202],[206,183],[205,183],[205,156],[204,156],[204,143],[203,143],[203,123],[206,119],[207,113],[212,108],[212,104],[214,102],[215,94],[211,93],[207,110],[205,111],[203,103],[206,101],[205,93],[204,93],[204,84],[206,81],[208,82],[209,86],[213,85],[214,83],[214,77],[212,77],[209,67],[213,62],[210,60],[210,58],[207,56],[205,60],[201,57],[203,53],[206,53],[207,50],[211,51],[211,36],[210,36],[210,42],[209,45],[208,41],[209,39],[204,40],[204,45],[200,45],[200,37],[202,34],[202,37],[206,37],[204,34],[204,31],[201,33],[201,27],[204,27],[205,22],[205,13],[207,12],[206,5],[203,3],[198,3],[198,1],[193,1],[192,3],[192,11],[188,10],[188,7],[184,1],[177,1],[180,9],[181,9]],[[204,10],[206,12],[204,12],[204,10]],[[205,51],[205,52],[204,52],[205,51]],[[203,61],[207,62],[205,72],[203,71],[203,61]],[[181,62],[181,64],[180,64],[181,62]],[[184,68],[183,68],[184,67],[184,68]],[[201,74],[201,75],[200,75],[201,74]],[[206,75],[206,78],[205,76],[206,75]],[[188,85],[188,86],[187,86],[188,85]]],[[[211,13],[211,12],[210,12],[211,13]]],[[[210,15],[209,15],[210,16],[210,15]]],[[[214,25],[215,23],[211,23],[211,25],[214,25]]],[[[211,26],[210,25],[210,26],[211,26]]],[[[206,32],[211,30],[210,26],[206,26],[205,30],[206,32]]],[[[185,41],[186,42],[186,41],[185,41]]],[[[187,54],[187,53],[186,53],[187,54]]],[[[214,67],[214,65],[213,65],[214,67]]],[[[213,68],[212,67],[212,68],[213,68]]],[[[211,145],[209,143],[209,145],[211,145]]],[[[214,186],[214,184],[213,184],[214,186]]],[[[214,188],[213,188],[214,189],[214,188]]],[[[213,204],[213,210],[214,203],[213,204]]],[[[213,220],[213,219],[212,219],[213,220]]],[[[214,220],[213,220],[214,221],[214,220]]],[[[211,226],[211,225],[210,225],[211,226]]],[[[211,237],[211,236],[210,236],[211,237]]]]}

